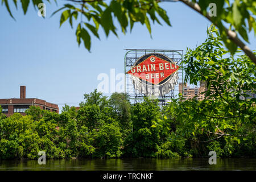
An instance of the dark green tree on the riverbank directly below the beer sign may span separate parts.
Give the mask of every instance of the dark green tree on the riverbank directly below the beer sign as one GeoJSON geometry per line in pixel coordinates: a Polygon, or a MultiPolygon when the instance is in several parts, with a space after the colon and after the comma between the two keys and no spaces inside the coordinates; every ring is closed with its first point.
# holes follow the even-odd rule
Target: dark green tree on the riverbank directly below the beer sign
{"type": "Polygon", "coordinates": [[[154,157],[160,140],[159,131],[151,127],[152,121],[161,117],[156,100],[144,98],[144,102],[131,109],[133,132],[125,141],[125,153],[133,157],[154,157]]]}

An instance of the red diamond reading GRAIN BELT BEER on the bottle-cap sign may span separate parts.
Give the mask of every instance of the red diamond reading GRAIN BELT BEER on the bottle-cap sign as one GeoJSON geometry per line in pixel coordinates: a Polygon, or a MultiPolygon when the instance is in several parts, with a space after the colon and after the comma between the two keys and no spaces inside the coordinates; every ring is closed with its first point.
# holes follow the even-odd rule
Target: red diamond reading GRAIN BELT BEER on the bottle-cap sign
{"type": "Polygon", "coordinates": [[[127,74],[158,85],[168,80],[166,78],[170,77],[178,69],[179,66],[176,63],[172,63],[167,56],[152,53],[139,58],[127,74]]]}

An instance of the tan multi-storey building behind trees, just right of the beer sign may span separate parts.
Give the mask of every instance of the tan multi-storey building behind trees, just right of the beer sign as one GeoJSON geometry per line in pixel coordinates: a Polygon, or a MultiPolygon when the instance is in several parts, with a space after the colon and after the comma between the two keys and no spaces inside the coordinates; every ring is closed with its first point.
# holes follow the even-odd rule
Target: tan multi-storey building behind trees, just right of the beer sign
{"type": "MultiPolygon", "coordinates": [[[[185,100],[191,99],[195,96],[198,96],[197,100],[204,100],[205,98],[205,90],[207,89],[207,85],[205,81],[200,81],[200,87],[190,88],[187,83],[183,84],[183,97],[185,100]]],[[[179,93],[182,94],[182,83],[179,83],[179,93]]]]}

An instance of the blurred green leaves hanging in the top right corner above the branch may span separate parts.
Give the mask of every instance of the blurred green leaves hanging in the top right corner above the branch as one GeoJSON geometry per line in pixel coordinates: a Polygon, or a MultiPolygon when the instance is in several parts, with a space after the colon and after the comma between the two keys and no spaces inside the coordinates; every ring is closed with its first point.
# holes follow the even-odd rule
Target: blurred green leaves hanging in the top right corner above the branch
{"type": "Polygon", "coordinates": [[[248,33],[251,30],[254,30],[254,35],[256,35],[256,23],[254,17],[256,15],[255,1],[199,0],[194,2],[199,3],[204,16],[207,15],[207,12],[210,9],[208,7],[209,4],[216,3],[217,15],[211,17],[212,23],[219,28],[221,39],[232,55],[237,51],[237,44],[234,44],[230,39],[228,39],[224,24],[229,26],[229,30],[234,30],[236,33],[240,34],[243,40],[247,43],[249,43],[248,33]]]}

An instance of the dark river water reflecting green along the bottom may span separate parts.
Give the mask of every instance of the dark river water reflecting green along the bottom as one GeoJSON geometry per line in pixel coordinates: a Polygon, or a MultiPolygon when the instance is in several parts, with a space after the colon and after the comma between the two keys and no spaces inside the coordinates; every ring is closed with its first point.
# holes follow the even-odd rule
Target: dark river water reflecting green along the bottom
{"type": "Polygon", "coordinates": [[[256,159],[217,159],[210,165],[208,158],[200,159],[47,159],[45,165],[37,160],[0,160],[0,170],[256,170],[256,159]]]}

